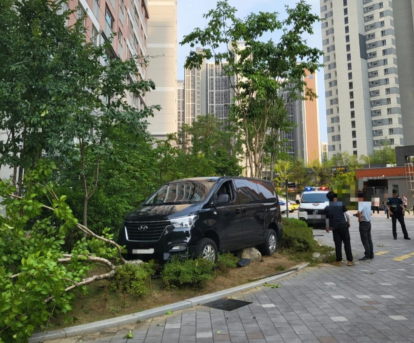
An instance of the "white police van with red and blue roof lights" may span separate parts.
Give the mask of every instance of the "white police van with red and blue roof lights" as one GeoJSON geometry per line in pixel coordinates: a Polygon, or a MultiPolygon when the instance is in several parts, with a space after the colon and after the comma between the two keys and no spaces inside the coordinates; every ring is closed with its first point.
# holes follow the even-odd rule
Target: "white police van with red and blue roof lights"
{"type": "Polygon", "coordinates": [[[326,194],[328,187],[305,187],[301,199],[296,200],[299,204],[298,219],[325,228],[325,206],[327,204],[326,194]]]}

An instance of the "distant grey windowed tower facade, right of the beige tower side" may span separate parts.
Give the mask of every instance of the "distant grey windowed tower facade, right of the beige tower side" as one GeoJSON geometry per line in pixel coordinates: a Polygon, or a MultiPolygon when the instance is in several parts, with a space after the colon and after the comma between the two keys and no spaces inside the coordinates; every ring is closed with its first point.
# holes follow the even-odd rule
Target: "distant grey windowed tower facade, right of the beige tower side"
{"type": "Polygon", "coordinates": [[[206,64],[206,78],[206,113],[215,115],[219,121],[227,121],[232,100],[230,78],[223,75],[222,66],[216,65],[214,62],[206,64]]]}

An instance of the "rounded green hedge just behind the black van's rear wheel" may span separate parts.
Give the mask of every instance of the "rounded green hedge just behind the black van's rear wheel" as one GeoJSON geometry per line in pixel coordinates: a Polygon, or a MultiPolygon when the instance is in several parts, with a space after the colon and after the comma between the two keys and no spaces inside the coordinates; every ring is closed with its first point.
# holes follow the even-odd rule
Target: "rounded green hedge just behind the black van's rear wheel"
{"type": "Polygon", "coordinates": [[[317,243],[313,238],[313,229],[308,225],[294,218],[283,218],[283,236],[280,239],[279,247],[291,249],[295,252],[313,252],[317,243]]]}

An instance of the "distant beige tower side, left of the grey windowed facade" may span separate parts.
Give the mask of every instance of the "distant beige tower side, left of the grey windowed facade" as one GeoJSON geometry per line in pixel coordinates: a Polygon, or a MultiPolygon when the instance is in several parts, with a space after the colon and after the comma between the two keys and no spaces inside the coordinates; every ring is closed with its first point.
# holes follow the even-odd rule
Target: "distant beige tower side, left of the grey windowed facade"
{"type": "MultiPolygon", "coordinates": [[[[195,51],[201,52],[201,48],[195,51]]],[[[200,68],[186,68],[184,73],[184,123],[191,125],[197,116],[206,115],[206,60],[200,68]]]]}

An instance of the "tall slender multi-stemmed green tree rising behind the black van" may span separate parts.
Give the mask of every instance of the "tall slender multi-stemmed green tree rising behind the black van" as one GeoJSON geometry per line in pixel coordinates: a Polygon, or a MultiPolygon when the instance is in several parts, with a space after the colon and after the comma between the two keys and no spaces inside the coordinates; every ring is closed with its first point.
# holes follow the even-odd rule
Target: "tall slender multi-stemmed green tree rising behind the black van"
{"type": "Polygon", "coordinates": [[[231,78],[235,104],[231,114],[243,134],[250,175],[258,176],[269,128],[273,132],[270,145],[278,145],[286,117],[284,108],[289,102],[286,91],[292,96],[297,90],[302,92],[305,69],[315,72],[321,66],[318,60],[322,51],[308,47],[301,37],[305,32],[312,34],[313,23],[320,19],[310,13],[310,5],[304,1],[287,7],[284,20],[279,20],[276,12],[252,13],[245,19],[236,17],[236,12],[227,1],[218,1],[216,9],[204,15],[209,19],[207,27],[184,36],[181,44],[200,44],[203,48],[201,53],[190,52],[185,67],[200,67],[203,58],[214,58],[231,78]],[[263,34],[276,30],[282,31],[279,43],[260,41],[263,34]],[[241,41],[243,45],[237,43],[241,41]]]}

